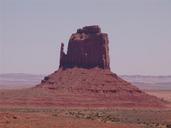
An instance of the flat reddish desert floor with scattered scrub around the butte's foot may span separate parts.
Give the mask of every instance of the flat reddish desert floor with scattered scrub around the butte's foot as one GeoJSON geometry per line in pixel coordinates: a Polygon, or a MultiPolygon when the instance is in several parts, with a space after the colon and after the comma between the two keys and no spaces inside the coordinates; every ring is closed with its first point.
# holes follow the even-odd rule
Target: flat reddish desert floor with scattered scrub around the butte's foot
{"type": "MultiPolygon", "coordinates": [[[[1,90],[0,97],[15,96],[12,92],[13,90],[1,90]]],[[[15,94],[16,92],[18,93],[15,91],[15,94]]],[[[168,100],[168,103],[171,102],[171,91],[148,91],[148,93],[168,100]]],[[[88,109],[1,104],[0,128],[169,128],[171,125],[169,107],[88,109]]]]}

